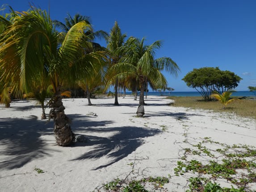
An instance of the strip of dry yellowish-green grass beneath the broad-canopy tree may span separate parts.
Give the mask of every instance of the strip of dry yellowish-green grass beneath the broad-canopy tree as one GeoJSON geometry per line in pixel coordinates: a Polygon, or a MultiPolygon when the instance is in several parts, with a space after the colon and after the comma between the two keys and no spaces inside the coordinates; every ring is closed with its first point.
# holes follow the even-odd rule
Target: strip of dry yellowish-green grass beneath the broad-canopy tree
{"type": "MultiPolygon", "coordinates": [[[[249,117],[256,119],[256,100],[250,99],[249,97],[236,97],[240,100],[235,100],[230,103],[226,109],[222,109],[222,104],[217,100],[204,101],[200,96],[191,97],[177,97],[169,96],[168,99],[172,99],[175,102],[171,103],[172,106],[176,107],[189,107],[192,109],[207,109],[214,110],[215,112],[230,112],[235,113],[241,117],[249,117]]],[[[235,98],[235,97],[231,97],[235,98]]]]}

